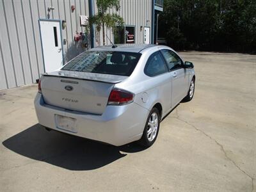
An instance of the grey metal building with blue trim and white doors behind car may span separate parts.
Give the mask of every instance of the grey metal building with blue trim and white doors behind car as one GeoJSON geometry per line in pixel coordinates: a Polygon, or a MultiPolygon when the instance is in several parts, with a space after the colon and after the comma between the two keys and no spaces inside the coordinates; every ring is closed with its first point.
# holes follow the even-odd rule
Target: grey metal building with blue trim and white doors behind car
{"type": "MultiPolygon", "coordinates": [[[[0,0],[0,90],[35,83],[40,74],[102,45],[102,30],[83,26],[97,14],[96,1],[0,0]]],[[[156,42],[163,0],[120,0],[120,6],[109,13],[122,16],[125,26],[106,30],[106,44],[156,42]]]]}

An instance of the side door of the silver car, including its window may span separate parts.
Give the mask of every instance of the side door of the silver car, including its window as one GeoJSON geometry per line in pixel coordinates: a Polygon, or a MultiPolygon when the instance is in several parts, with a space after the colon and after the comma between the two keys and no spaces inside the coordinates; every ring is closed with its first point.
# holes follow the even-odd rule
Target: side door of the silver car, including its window
{"type": "Polygon", "coordinates": [[[170,49],[161,49],[168,64],[172,81],[172,108],[182,100],[188,92],[188,76],[180,57],[170,49]]]}

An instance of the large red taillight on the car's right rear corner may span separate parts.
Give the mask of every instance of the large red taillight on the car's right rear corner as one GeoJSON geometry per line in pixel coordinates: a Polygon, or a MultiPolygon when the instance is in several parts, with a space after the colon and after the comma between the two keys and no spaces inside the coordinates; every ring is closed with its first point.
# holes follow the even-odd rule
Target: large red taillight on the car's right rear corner
{"type": "Polygon", "coordinates": [[[113,89],[108,98],[108,105],[122,106],[133,102],[134,94],[125,90],[113,89]]]}

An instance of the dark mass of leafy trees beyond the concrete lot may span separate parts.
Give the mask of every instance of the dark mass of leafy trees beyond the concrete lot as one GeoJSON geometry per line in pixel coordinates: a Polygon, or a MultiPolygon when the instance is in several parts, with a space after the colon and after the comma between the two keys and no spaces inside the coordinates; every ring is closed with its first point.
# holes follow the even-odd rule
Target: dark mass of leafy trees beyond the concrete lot
{"type": "Polygon", "coordinates": [[[256,1],[164,0],[159,36],[175,49],[256,52],[256,1]]]}

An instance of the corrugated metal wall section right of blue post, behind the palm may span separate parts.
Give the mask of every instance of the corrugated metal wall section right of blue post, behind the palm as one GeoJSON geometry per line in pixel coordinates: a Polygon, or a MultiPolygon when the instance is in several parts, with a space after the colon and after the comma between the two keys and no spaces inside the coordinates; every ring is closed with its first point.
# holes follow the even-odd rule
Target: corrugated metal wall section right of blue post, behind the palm
{"type": "MultiPolygon", "coordinates": [[[[97,14],[97,5],[95,3],[95,14],[97,14]]],[[[143,44],[143,28],[141,26],[150,27],[151,30],[151,15],[152,15],[152,0],[120,0],[120,10],[116,12],[115,9],[109,10],[109,13],[116,13],[123,17],[125,25],[135,26],[135,43],[143,44]],[[148,20],[148,22],[147,22],[148,20]]],[[[111,29],[106,30],[106,35],[110,38],[111,42],[114,42],[113,31],[111,29]]],[[[102,41],[102,30],[99,33],[99,45],[103,45],[102,41]]],[[[106,37],[106,44],[110,42],[106,37]]],[[[96,43],[97,45],[97,43],[96,43]]]]}

